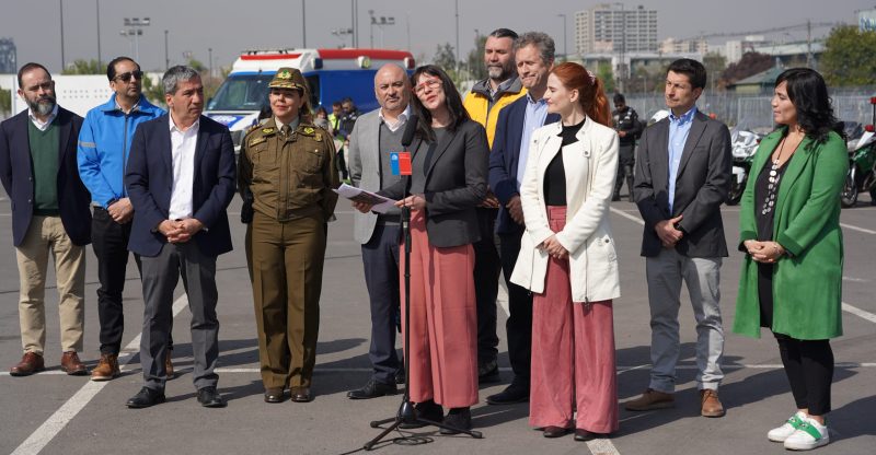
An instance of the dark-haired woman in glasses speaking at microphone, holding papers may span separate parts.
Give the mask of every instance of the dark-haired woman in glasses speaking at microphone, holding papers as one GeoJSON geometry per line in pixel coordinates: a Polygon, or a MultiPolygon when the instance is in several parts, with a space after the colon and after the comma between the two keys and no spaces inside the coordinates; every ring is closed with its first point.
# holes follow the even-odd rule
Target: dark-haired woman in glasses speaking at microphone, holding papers
{"type": "Polygon", "coordinates": [[[489,148],[443,70],[419,67],[411,85],[419,117],[410,148],[412,174],[380,191],[411,209],[411,314],[402,318],[411,330],[407,386],[418,417],[470,430],[469,408],[477,402],[472,243],[480,240],[475,207],[486,196],[489,148]]]}

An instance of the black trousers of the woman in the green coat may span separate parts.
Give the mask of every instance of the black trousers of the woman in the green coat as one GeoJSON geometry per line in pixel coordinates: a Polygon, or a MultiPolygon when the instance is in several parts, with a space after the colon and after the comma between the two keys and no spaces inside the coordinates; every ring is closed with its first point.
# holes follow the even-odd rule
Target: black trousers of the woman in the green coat
{"type": "Polygon", "coordinates": [[[830,412],[830,385],[833,382],[833,351],[829,340],[798,340],[774,334],[779,352],[798,409],[812,416],[830,412]]]}

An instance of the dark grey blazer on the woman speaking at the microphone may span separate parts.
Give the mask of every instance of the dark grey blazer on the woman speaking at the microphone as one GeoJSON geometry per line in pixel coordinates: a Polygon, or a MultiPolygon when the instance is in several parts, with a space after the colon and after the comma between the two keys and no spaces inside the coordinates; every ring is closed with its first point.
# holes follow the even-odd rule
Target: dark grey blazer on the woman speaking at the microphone
{"type": "MultiPolygon", "coordinates": [[[[410,148],[411,160],[426,153],[429,144],[416,138],[410,148]]],[[[466,120],[436,143],[425,186],[426,232],[431,245],[450,247],[481,240],[475,207],[486,197],[488,153],[486,130],[473,120],[466,120]]],[[[380,194],[402,199],[408,188],[410,176],[380,194]]]]}

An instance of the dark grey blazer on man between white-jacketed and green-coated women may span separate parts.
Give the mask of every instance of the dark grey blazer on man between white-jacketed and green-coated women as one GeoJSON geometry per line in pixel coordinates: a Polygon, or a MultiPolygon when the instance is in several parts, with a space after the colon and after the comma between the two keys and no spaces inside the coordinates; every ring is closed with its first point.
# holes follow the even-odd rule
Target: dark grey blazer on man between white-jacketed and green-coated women
{"type": "Polygon", "coordinates": [[[730,186],[730,132],[727,126],[701,112],[691,130],[676,178],[673,212],[669,213],[669,118],[642,133],[636,159],[635,196],[645,220],[642,256],[657,256],[662,248],[654,232],[657,222],[682,214],[684,236],[676,250],[688,257],[726,257],[727,242],[721,205],[730,186]]]}

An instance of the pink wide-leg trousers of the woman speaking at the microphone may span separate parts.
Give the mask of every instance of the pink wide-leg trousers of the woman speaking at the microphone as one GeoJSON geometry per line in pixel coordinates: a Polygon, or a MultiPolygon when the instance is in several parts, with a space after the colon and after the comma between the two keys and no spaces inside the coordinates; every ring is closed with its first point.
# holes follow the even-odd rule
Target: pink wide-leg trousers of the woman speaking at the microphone
{"type": "MultiPolygon", "coordinates": [[[[404,283],[404,255],[400,280],[404,283]]],[[[423,210],[411,213],[410,395],[449,408],[477,402],[477,313],[471,244],[429,244],[423,210]]],[[[402,302],[405,289],[402,285],[402,302]]],[[[405,314],[402,303],[403,330],[405,314]]]]}

